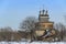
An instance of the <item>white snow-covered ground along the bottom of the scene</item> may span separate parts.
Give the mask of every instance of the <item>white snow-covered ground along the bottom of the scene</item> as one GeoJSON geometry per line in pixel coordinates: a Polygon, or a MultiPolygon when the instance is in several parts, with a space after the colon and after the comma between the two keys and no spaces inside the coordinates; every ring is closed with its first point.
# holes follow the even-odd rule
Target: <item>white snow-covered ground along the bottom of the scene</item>
{"type": "Polygon", "coordinates": [[[0,42],[0,44],[66,44],[66,42],[0,42]]]}

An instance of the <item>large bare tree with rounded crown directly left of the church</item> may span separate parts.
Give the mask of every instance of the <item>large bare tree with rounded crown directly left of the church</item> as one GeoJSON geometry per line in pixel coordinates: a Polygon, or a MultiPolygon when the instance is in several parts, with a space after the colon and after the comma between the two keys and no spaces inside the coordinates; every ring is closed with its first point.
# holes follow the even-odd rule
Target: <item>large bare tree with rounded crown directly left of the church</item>
{"type": "Polygon", "coordinates": [[[35,16],[26,16],[25,20],[20,23],[20,29],[30,33],[31,41],[33,38],[33,30],[35,29],[36,21],[37,19],[35,16]]]}

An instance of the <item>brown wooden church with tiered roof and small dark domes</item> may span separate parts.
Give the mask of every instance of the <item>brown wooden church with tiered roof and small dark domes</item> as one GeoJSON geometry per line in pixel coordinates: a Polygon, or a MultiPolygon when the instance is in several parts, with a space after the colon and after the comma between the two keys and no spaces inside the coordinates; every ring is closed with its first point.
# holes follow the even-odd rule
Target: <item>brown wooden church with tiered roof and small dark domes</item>
{"type": "Polygon", "coordinates": [[[50,21],[50,15],[47,10],[40,11],[38,22],[35,23],[34,36],[38,41],[54,41],[56,34],[54,28],[54,22],[50,21]]]}

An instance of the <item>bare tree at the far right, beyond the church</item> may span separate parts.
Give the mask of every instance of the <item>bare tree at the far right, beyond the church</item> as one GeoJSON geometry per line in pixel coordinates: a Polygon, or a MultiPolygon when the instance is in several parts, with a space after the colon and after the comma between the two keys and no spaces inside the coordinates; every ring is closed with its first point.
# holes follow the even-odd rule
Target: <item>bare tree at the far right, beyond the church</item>
{"type": "Polygon", "coordinates": [[[65,28],[65,25],[62,24],[62,23],[57,23],[57,24],[55,24],[55,29],[59,32],[58,34],[59,34],[59,36],[61,36],[61,40],[63,41],[64,35],[65,35],[65,33],[66,33],[66,28],[65,28]]]}

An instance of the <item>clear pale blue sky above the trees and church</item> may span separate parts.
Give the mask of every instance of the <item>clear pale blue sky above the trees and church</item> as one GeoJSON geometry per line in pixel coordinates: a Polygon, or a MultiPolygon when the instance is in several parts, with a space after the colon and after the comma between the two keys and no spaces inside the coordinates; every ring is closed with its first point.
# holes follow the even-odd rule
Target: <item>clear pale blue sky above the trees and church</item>
{"type": "Polygon", "coordinates": [[[25,16],[37,18],[42,9],[48,10],[51,21],[65,22],[66,0],[0,0],[0,28],[19,29],[25,16]]]}

